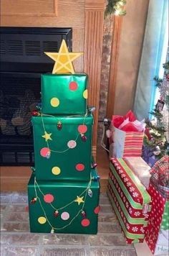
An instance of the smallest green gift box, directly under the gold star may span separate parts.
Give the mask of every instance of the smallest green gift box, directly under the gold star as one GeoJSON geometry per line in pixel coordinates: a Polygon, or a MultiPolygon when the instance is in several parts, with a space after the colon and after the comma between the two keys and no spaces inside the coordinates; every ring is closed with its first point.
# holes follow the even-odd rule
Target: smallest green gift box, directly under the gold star
{"type": "Polygon", "coordinates": [[[43,74],[42,113],[85,114],[87,111],[87,75],[43,74]]]}

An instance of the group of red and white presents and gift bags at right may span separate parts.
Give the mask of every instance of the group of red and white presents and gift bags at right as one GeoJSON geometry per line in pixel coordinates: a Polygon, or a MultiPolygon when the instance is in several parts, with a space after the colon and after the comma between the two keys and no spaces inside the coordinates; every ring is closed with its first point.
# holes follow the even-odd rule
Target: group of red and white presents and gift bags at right
{"type": "Polygon", "coordinates": [[[132,111],[112,116],[107,194],[126,242],[147,242],[154,255],[168,255],[168,155],[153,168],[142,157],[145,124],[132,111]]]}

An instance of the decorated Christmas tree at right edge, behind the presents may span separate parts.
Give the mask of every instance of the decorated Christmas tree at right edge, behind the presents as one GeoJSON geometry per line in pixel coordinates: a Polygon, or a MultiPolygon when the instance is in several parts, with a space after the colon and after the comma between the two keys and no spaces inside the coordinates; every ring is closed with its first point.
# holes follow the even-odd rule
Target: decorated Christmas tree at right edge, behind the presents
{"type": "Polygon", "coordinates": [[[168,109],[169,109],[169,62],[163,64],[163,79],[155,77],[155,86],[158,87],[160,99],[158,99],[155,109],[150,111],[153,119],[146,122],[144,145],[160,159],[164,155],[169,155],[168,148],[168,109]]]}

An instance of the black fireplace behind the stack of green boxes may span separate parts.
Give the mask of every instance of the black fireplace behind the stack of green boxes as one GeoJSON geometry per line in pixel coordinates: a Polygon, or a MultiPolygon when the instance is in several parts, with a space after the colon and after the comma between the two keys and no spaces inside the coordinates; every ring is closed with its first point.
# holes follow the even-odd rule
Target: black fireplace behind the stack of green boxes
{"type": "Polygon", "coordinates": [[[34,165],[31,113],[40,104],[41,74],[52,71],[44,52],[62,39],[72,50],[71,28],[1,27],[1,165],[34,165]]]}

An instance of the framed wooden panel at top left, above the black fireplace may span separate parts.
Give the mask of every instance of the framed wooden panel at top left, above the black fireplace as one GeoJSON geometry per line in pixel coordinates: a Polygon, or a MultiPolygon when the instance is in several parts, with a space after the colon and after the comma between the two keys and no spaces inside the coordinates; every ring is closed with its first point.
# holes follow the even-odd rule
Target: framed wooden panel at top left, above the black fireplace
{"type": "Polygon", "coordinates": [[[1,0],[1,15],[56,16],[57,0],[1,0]]]}

